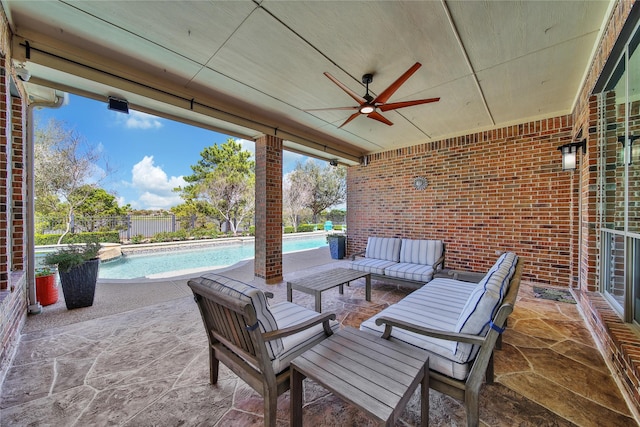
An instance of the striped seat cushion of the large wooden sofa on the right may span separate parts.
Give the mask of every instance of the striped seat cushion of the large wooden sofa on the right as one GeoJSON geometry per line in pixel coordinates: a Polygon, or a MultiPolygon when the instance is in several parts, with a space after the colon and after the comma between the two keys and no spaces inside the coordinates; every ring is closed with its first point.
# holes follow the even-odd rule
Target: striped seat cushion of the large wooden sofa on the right
{"type": "MultiPolygon", "coordinates": [[[[475,283],[459,280],[434,279],[400,302],[362,322],[360,329],[382,334],[384,325],[378,326],[375,321],[380,316],[388,316],[427,328],[453,331],[460,312],[475,286],[475,283]]],[[[391,336],[427,350],[431,354],[429,368],[434,371],[457,379],[464,379],[469,373],[470,365],[457,360],[452,351],[451,341],[427,337],[400,328],[393,328],[391,336]]]]}

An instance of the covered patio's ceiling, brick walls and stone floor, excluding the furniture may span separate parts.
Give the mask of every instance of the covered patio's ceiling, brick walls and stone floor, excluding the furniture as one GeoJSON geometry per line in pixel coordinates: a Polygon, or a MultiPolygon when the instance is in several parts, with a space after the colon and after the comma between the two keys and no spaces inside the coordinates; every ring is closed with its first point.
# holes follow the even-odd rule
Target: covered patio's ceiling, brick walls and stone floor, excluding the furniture
{"type": "MultiPolygon", "coordinates": [[[[230,274],[278,299],[304,274],[281,251],[285,150],[349,166],[349,253],[369,236],[437,238],[447,267],[476,272],[517,253],[525,283],[482,421],[640,419],[635,1],[0,4],[3,423],[261,422],[257,395],[230,374],[206,385],[205,335],[184,283],[154,284],[162,293],[140,284],[136,295],[102,286],[118,309],[27,316],[38,305],[30,114],[64,92],[255,141],[256,262],[230,274]],[[382,111],[392,126],[326,110],[358,107],[325,72],[360,97],[365,73],[375,95],[416,63],[391,101],[439,102],[382,111]],[[575,172],[557,150],[571,144],[581,147],[575,172]],[[577,304],[536,298],[533,286],[571,291],[577,304]]],[[[323,305],[358,326],[406,294],[376,283],[366,303],[363,292],[361,283],[327,292],[323,305]]],[[[306,295],[294,301],[312,306],[306,295]]],[[[434,425],[463,423],[458,403],[431,399],[434,425]]],[[[313,386],[306,401],[308,422],[364,422],[313,386]]]]}

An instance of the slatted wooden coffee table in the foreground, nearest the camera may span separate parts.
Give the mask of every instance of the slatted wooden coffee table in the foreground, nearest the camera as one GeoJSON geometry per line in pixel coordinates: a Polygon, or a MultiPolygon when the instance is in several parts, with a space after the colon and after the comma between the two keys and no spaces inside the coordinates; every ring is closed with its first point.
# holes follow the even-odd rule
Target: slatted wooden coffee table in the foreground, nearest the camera
{"type": "Polygon", "coordinates": [[[355,405],[378,425],[393,426],[418,385],[421,425],[429,423],[429,355],[415,346],[344,328],[291,361],[291,425],[302,425],[307,377],[355,405]]]}

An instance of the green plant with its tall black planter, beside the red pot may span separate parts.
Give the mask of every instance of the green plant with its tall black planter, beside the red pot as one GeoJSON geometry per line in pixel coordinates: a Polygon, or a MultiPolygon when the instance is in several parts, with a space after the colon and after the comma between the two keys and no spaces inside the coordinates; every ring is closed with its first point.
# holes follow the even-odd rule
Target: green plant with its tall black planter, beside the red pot
{"type": "Polygon", "coordinates": [[[100,265],[99,251],[100,244],[90,242],[69,245],[45,256],[45,264],[58,266],[67,309],[93,305],[100,265]]]}

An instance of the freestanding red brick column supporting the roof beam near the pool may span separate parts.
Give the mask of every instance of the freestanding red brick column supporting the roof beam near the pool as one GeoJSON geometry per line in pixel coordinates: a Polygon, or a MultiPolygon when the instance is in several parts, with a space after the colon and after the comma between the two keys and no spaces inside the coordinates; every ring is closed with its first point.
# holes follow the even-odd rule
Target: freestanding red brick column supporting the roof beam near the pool
{"type": "Polygon", "coordinates": [[[282,140],[265,135],[256,140],[255,276],[282,281],[282,140]]]}

